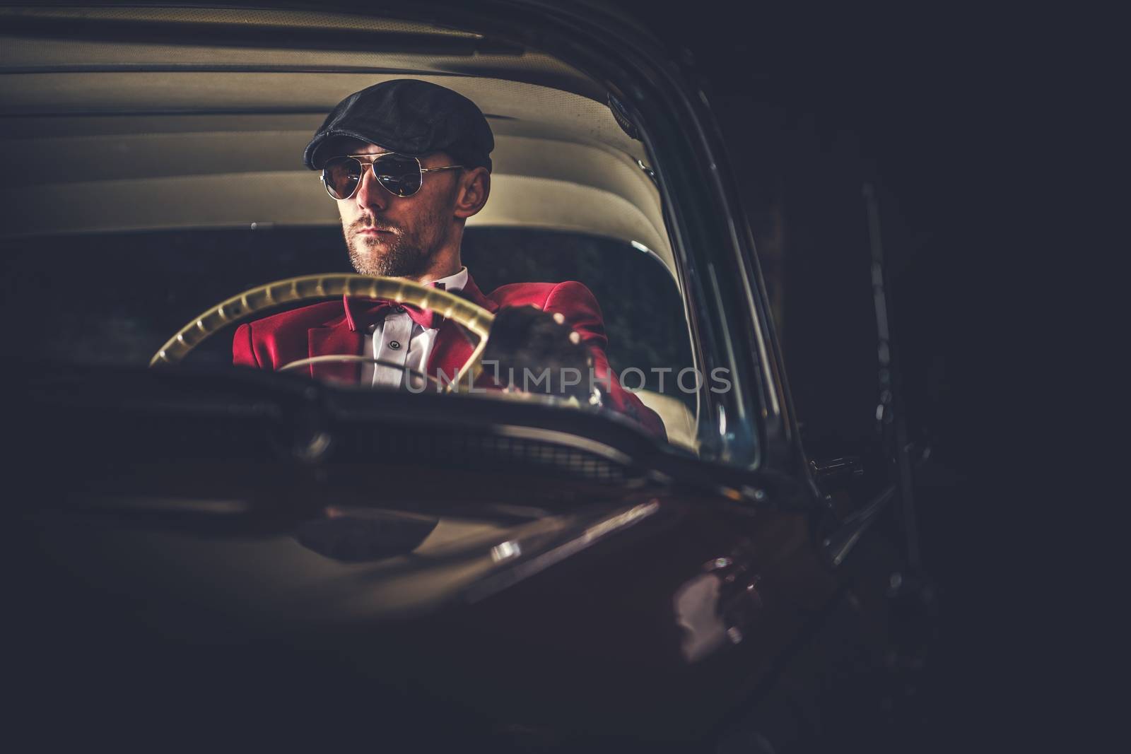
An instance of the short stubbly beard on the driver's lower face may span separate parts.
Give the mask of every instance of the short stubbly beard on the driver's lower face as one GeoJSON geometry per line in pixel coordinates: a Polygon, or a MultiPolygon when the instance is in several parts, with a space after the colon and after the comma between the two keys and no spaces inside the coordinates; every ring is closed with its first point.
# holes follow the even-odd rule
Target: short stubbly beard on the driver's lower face
{"type": "Polygon", "coordinates": [[[443,245],[442,218],[420,218],[414,228],[391,225],[377,218],[362,218],[343,227],[349,262],[359,275],[381,277],[420,277],[428,272],[437,252],[443,245]],[[377,227],[389,233],[362,235],[361,231],[377,227]]]}

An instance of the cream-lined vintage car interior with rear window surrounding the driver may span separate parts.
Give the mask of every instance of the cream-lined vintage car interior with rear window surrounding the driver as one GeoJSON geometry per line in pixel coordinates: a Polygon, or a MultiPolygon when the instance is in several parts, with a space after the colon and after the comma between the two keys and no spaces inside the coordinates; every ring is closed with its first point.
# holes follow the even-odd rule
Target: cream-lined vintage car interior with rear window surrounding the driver
{"type": "MultiPolygon", "coordinates": [[[[343,97],[420,78],[474,101],[495,137],[464,261],[481,288],[578,279],[614,370],[697,363],[642,141],[561,61],[481,34],[286,10],[0,8],[7,305],[59,338],[44,358],[146,364],[190,318],[250,286],[349,271],[302,150],[343,97]],[[144,40],[144,41],[143,41],[144,40]],[[143,283],[138,283],[143,280],[143,283]],[[83,327],[74,327],[81,318],[83,327]]],[[[230,359],[218,333],[199,363],[230,359]]],[[[640,395],[698,448],[696,395],[640,395]]]]}

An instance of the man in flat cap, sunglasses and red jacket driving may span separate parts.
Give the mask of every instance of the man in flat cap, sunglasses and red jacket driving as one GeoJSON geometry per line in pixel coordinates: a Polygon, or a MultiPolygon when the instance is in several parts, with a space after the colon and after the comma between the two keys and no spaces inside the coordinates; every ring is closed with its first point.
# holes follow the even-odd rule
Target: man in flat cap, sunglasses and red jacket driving
{"type": "MultiPolygon", "coordinates": [[[[484,295],[460,263],[464,224],[491,192],[493,148],[491,127],[470,99],[434,84],[397,79],[338,103],[303,159],[322,171],[326,190],[337,200],[359,274],[442,287],[495,313],[484,362],[501,364],[504,385],[506,367],[517,367],[519,388],[524,370],[537,379],[550,369],[549,390],[579,395],[578,385],[569,384],[575,372],[562,371],[568,367],[580,375],[589,398],[592,366],[596,400],[666,436],[658,415],[608,369],[601,309],[588,288],[576,281],[524,283],[484,295]]],[[[451,379],[472,348],[459,326],[432,312],[355,297],[243,324],[232,346],[235,364],[270,370],[312,356],[366,356],[374,361],[361,367],[311,364],[311,374],[389,388],[412,387],[420,372],[451,379]]]]}

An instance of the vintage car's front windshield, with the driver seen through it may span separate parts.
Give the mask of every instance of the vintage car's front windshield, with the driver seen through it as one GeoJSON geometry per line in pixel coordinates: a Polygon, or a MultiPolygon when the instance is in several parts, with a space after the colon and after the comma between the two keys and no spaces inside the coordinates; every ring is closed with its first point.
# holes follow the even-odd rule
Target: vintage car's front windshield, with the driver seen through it
{"type": "MultiPolygon", "coordinates": [[[[170,28],[205,18],[146,12],[170,28]]],[[[309,16],[299,20],[317,25],[309,16]]],[[[268,54],[239,35],[163,46],[104,40],[97,24],[27,26],[35,44],[0,59],[0,137],[20,176],[3,197],[3,298],[9,317],[38,323],[14,336],[19,358],[147,369],[182,327],[247,289],[323,274],[407,279],[474,304],[493,318],[490,337],[408,294],[308,296],[201,321],[207,337],[190,332],[171,369],[286,370],[406,400],[421,389],[543,400],[699,453],[716,432],[710,393],[731,381],[699,369],[687,270],[634,129],[599,86],[539,53],[497,51],[491,76],[454,76],[438,68],[463,53],[444,62],[442,47],[474,35],[422,27],[428,51],[391,52],[379,27],[364,51],[268,54]],[[69,38],[79,32],[90,38],[69,38]],[[351,114],[344,103],[363,92],[375,98],[351,114]],[[418,127],[406,114],[417,111],[418,127]],[[366,131],[365,118],[386,120],[366,131]],[[452,390],[460,375],[467,390],[452,390]]]]}

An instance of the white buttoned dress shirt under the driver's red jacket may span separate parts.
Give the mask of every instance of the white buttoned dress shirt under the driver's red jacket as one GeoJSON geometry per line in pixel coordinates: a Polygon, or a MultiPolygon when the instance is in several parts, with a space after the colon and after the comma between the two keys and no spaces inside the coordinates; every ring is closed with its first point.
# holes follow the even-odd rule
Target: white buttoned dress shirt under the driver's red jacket
{"type": "MultiPolygon", "coordinates": [[[[435,283],[442,283],[444,291],[463,291],[467,285],[467,268],[460,267],[455,275],[442,277],[435,283]]],[[[402,309],[390,311],[385,321],[371,326],[369,332],[371,337],[365,338],[363,356],[423,372],[428,366],[428,357],[432,353],[432,345],[439,330],[422,328],[402,309]]],[[[411,384],[414,388],[421,385],[422,378],[418,375],[407,378],[405,370],[397,366],[374,362],[362,365],[362,384],[371,384],[374,388],[402,388],[408,384],[405,382],[406,379],[413,380],[411,384]]]]}

